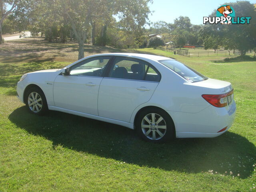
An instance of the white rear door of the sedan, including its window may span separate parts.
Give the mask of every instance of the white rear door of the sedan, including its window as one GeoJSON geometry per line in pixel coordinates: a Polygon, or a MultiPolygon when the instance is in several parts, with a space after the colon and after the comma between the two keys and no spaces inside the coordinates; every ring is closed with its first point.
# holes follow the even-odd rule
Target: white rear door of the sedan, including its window
{"type": "Polygon", "coordinates": [[[151,64],[116,57],[100,84],[99,116],[130,122],[134,109],[150,100],[159,81],[160,73],[151,64]]]}

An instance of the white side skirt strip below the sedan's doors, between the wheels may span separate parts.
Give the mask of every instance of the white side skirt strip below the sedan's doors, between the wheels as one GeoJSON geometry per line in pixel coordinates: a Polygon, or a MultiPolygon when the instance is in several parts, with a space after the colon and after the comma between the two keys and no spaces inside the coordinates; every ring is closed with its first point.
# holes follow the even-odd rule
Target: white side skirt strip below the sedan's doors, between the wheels
{"type": "Polygon", "coordinates": [[[113,124],[117,124],[117,125],[121,125],[121,126],[130,128],[130,129],[134,129],[134,124],[130,123],[130,122],[124,122],[124,121],[119,121],[116,119],[100,117],[100,116],[82,113],[82,112],[69,110],[69,109],[64,109],[64,108],[60,108],[60,107],[56,107],[56,106],[52,106],[52,105],[48,105],[48,109],[54,110],[54,111],[60,111],[60,112],[64,112],[64,113],[69,113],[69,114],[73,114],[73,115],[78,115],[78,116],[82,116],[82,117],[86,117],[86,118],[91,118],[91,119],[95,119],[95,120],[99,120],[99,121],[104,121],[104,122],[108,122],[108,123],[113,123],[113,124]]]}

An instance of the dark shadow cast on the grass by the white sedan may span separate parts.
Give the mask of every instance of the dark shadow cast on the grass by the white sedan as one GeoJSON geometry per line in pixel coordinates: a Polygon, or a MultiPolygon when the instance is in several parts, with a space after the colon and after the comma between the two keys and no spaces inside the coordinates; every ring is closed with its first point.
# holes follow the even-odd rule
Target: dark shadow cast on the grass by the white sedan
{"type": "Polygon", "coordinates": [[[14,110],[10,121],[28,133],[78,152],[95,154],[139,166],[199,173],[232,171],[241,178],[250,176],[256,148],[246,138],[226,132],[218,138],[175,139],[152,144],[138,138],[134,130],[62,112],[46,116],[27,112],[25,106],[14,110]]]}

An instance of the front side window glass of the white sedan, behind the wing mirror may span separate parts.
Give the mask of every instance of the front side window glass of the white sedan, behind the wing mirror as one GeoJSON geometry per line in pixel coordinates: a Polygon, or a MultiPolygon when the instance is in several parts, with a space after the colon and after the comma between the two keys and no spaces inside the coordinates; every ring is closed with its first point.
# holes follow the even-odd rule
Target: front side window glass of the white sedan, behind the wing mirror
{"type": "Polygon", "coordinates": [[[110,57],[89,58],[74,66],[69,70],[71,76],[94,76],[100,77],[110,57]]]}

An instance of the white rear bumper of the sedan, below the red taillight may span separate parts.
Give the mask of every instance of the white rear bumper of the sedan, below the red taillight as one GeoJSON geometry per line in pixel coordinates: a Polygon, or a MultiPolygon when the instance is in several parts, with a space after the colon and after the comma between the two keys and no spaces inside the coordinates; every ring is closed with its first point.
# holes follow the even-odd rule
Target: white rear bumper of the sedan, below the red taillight
{"type": "Polygon", "coordinates": [[[198,113],[167,112],[174,121],[177,138],[217,137],[232,126],[236,103],[233,101],[228,110],[210,105],[198,113]],[[226,130],[218,132],[225,127],[226,130]]]}

